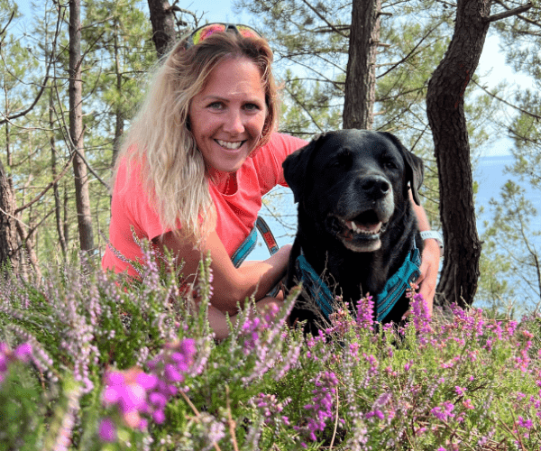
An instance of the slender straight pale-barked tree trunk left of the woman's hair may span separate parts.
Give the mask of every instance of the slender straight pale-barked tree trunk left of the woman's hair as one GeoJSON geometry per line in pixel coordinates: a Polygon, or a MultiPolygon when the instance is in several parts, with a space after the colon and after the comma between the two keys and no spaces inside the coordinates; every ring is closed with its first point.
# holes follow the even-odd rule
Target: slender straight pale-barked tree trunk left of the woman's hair
{"type": "Polygon", "coordinates": [[[71,139],[78,231],[81,250],[94,249],[87,166],[83,147],[83,81],[81,78],[81,5],[69,0],[69,136],[71,139]]]}

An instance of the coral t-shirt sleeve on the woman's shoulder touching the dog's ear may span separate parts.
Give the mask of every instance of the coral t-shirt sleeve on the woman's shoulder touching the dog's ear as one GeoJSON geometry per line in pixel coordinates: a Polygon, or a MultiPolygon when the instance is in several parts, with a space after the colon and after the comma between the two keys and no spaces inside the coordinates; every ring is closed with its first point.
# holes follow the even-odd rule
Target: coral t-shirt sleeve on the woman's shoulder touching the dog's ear
{"type": "Polygon", "coordinates": [[[261,147],[253,157],[257,170],[261,195],[268,193],[276,185],[287,187],[282,163],[286,157],[306,145],[307,142],[283,133],[273,133],[271,141],[261,147]]]}

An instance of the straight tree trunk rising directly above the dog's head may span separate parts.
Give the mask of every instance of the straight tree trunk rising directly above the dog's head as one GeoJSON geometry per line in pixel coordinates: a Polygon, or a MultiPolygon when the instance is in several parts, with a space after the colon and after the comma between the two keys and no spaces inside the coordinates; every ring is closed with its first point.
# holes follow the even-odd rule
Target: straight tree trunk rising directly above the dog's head
{"type": "Polygon", "coordinates": [[[345,76],[344,128],[370,130],[376,101],[381,0],[353,0],[345,76]]]}

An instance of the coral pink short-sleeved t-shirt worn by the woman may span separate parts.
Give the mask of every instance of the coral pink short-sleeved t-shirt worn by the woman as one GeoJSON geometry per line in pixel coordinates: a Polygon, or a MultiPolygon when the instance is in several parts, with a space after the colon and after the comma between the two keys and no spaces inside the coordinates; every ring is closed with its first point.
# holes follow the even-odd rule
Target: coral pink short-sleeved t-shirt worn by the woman
{"type": "MultiPolygon", "coordinates": [[[[261,197],[276,185],[288,186],[282,162],[289,153],[305,144],[305,141],[287,134],[273,133],[271,142],[254,152],[237,170],[236,191],[225,194],[208,180],[216,209],[216,233],[230,257],[252,231],[261,208],[261,197]]],[[[119,258],[107,246],[102,266],[115,272],[127,270],[128,274],[136,277],[137,272],[127,260],[141,262],[142,251],[133,240],[132,227],[140,240],[149,241],[170,230],[161,226],[151,198],[142,187],[141,165],[132,161],[129,169],[128,173],[127,164],[122,161],[117,171],[109,226],[109,243],[124,258],[119,258]]]]}

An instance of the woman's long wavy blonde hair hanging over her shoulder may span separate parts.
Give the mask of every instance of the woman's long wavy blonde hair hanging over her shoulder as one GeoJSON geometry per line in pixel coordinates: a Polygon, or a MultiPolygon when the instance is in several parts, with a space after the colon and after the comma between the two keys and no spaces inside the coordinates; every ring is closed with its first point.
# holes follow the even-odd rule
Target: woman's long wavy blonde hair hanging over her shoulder
{"type": "Polygon", "coordinates": [[[272,51],[262,38],[219,32],[186,48],[179,41],[155,69],[148,92],[124,136],[120,161],[142,166],[143,188],[160,216],[161,226],[192,235],[199,242],[215,227],[215,208],[208,190],[203,155],[188,129],[190,102],[209,75],[225,59],[248,58],[261,70],[267,117],[256,149],[268,143],[279,114],[278,92],[272,75],[272,51]]]}

